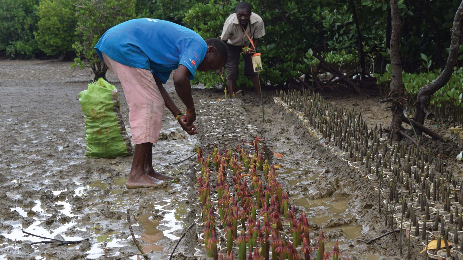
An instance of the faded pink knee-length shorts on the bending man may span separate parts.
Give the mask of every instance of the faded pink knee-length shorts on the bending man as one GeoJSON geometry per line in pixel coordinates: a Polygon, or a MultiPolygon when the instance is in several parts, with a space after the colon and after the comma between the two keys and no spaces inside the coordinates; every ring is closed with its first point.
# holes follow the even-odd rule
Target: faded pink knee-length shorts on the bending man
{"type": "Polygon", "coordinates": [[[164,99],[151,71],[133,68],[114,61],[102,53],[108,68],[119,78],[129,105],[129,122],[133,143],[156,143],[161,132],[164,99]]]}

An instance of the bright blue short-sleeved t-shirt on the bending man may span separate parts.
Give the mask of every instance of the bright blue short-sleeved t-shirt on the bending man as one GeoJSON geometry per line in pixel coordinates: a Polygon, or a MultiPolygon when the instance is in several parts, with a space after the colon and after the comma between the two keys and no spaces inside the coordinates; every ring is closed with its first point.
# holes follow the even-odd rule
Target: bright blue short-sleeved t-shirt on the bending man
{"type": "Polygon", "coordinates": [[[110,28],[95,45],[116,62],[134,68],[150,69],[164,83],[181,64],[194,79],[198,65],[206,56],[207,44],[196,32],[169,21],[141,18],[110,28]]]}

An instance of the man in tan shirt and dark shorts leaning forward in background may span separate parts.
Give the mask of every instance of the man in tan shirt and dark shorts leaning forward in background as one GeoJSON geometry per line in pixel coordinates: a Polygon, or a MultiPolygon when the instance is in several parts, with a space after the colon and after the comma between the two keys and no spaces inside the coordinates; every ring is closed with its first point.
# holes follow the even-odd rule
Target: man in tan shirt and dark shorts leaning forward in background
{"type": "MultiPolygon", "coordinates": [[[[228,93],[232,95],[236,91],[236,78],[238,77],[239,54],[243,47],[252,47],[248,36],[252,39],[257,48],[259,38],[265,35],[263,20],[256,13],[251,12],[251,6],[247,2],[239,2],[236,12],[232,13],[226,20],[220,38],[227,44],[228,60],[225,64],[227,69],[228,93]]],[[[250,76],[257,94],[257,105],[262,105],[261,93],[259,90],[259,78],[257,72],[252,69],[251,55],[255,50],[243,53],[244,75],[250,76]]]]}

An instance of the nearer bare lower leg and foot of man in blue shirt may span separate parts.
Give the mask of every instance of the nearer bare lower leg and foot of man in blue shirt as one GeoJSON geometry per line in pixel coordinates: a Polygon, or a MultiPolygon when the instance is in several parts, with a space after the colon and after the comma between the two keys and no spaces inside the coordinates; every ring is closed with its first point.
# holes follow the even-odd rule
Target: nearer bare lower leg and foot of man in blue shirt
{"type": "Polygon", "coordinates": [[[157,180],[144,171],[146,153],[150,148],[150,144],[152,145],[150,142],[135,144],[132,168],[126,184],[127,189],[156,187],[163,183],[162,180],[157,180]]]}

